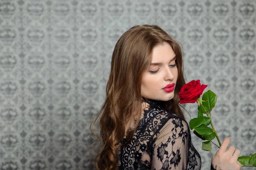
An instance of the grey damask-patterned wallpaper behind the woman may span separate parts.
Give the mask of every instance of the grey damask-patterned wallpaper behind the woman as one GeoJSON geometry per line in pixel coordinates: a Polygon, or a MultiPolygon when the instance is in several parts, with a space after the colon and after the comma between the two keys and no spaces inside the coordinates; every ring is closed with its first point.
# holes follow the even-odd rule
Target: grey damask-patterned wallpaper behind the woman
{"type": "MultiPolygon", "coordinates": [[[[187,82],[217,94],[221,140],[256,153],[255,0],[0,0],[1,170],[93,169],[89,125],[114,45],[145,23],[183,45],[187,82]]],[[[195,104],[186,108],[197,115],[195,104]]],[[[209,169],[217,149],[192,140],[209,169]]]]}

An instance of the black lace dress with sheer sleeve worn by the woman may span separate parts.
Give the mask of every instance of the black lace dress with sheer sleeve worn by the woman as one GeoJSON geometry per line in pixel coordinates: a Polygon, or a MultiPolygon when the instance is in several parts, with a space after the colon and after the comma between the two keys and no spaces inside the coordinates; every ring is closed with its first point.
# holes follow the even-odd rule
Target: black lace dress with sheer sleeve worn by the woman
{"type": "Polygon", "coordinates": [[[147,107],[131,143],[119,149],[119,170],[200,170],[201,157],[187,122],[163,110],[159,101],[144,102],[147,107]]]}

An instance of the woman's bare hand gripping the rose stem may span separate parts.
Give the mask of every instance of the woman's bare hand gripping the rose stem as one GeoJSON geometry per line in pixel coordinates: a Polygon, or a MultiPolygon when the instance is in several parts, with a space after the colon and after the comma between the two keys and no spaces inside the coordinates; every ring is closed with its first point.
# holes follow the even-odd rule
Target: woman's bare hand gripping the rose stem
{"type": "Polygon", "coordinates": [[[230,144],[231,139],[227,137],[218,151],[212,156],[212,167],[216,170],[240,170],[241,163],[237,160],[241,151],[230,144]]]}

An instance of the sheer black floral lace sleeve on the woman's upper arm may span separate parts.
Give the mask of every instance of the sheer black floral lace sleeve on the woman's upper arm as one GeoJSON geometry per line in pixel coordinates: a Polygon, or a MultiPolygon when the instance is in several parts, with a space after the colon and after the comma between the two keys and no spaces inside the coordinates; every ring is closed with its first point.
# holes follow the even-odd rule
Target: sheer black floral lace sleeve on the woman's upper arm
{"type": "Polygon", "coordinates": [[[185,170],[189,154],[189,127],[182,119],[169,119],[157,135],[151,159],[153,170],[185,170]]]}

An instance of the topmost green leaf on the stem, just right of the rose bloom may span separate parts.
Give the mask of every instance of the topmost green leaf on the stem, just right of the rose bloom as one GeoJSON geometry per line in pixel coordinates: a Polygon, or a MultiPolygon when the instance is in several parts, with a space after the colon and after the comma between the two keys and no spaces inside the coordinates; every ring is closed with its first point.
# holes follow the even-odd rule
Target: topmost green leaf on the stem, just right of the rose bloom
{"type": "Polygon", "coordinates": [[[203,94],[202,100],[207,100],[207,102],[202,102],[206,111],[213,109],[216,105],[217,96],[212,91],[207,91],[203,94]]]}

